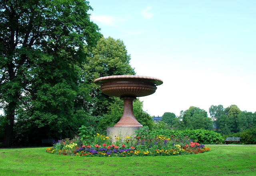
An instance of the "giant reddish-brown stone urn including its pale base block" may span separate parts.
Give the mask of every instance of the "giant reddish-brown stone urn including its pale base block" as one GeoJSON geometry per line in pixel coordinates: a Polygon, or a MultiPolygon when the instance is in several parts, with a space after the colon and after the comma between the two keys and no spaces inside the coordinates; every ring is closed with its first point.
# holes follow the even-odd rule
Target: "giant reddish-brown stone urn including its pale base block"
{"type": "Polygon", "coordinates": [[[124,113],[121,119],[114,127],[107,128],[107,136],[113,139],[115,136],[132,136],[134,130],[142,127],[134,117],[133,100],[136,97],[154,94],[156,86],[163,81],[149,76],[116,75],[98,78],[94,83],[100,85],[102,93],[124,100],[124,113]]]}

